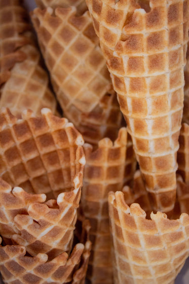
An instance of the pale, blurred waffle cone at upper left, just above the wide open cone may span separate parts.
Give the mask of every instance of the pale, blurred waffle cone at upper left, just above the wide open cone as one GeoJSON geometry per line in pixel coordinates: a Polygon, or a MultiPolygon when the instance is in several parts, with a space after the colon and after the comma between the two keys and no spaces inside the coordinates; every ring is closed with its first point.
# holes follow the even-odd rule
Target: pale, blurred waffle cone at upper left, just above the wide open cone
{"type": "Polygon", "coordinates": [[[20,51],[26,59],[11,69],[10,78],[1,90],[0,108],[7,107],[16,116],[21,116],[27,109],[36,115],[41,114],[42,108],[56,113],[56,99],[48,87],[48,75],[40,64],[40,52],[32,45],[25,45],[20,51]]]}

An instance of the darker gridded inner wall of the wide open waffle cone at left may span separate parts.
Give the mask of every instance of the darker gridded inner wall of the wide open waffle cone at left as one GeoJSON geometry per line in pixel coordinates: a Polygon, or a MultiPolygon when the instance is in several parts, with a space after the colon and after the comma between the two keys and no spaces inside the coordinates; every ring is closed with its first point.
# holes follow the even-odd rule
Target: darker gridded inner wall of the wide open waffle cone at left
{"type": "Polygon", "coordinates": [[[0,176],[12,187],[47,198],[73,189],[73,178],[83,173],[82,135],[65,118],[49,109],[35,117],[24,111],[17,119],[9,110],[0,114],[0,176]]]}

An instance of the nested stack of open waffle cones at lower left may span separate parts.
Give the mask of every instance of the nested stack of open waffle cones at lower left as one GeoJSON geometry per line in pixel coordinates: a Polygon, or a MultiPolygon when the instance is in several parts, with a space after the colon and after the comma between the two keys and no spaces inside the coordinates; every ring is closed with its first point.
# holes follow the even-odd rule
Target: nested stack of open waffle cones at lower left
{"type": "Polygon", "coordinates": [[[5,109],[0,121],[4,179],[0,233],[2,254],[5,250],[8,255],[1,258],[3,279],[27,283],[31,274],[31,281],[40,276],[56,283],[83,283],[91,247],[87,221],[83,244],[73,248],[85,165],[81,134],[48,109],[42,110],[41,117],[26,111],[21,119],[5,109]],[[8,258],[15,265],[9,267],[8,258]],[[51,267],[48,273],[45,267],[51,267]]]}

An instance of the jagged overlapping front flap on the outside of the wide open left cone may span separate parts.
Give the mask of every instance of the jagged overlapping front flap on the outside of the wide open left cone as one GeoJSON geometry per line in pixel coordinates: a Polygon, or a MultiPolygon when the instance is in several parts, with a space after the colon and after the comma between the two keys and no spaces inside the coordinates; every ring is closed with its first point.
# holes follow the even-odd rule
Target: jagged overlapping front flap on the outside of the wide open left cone
{"type": "Polygon", "coordinates": [[[46,204],[32,203],[27,209],[28,215],[16,215],[14,224],[19,234],[13,235],[12,239],[24,245],[31,256],[45,253],[51,260],[63,252],[69,254],[81,197],[81,184],[82,180],[77,189],[59,194],[57,202],[50,200],[46,204]]]}

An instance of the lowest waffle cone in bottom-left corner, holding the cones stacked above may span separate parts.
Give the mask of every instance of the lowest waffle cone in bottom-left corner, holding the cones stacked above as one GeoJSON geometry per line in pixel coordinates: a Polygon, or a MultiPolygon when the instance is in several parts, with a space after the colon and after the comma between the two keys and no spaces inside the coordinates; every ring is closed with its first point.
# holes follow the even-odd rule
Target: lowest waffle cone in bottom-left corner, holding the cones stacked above
{"type": "MultiPolygon", "coordinates": [[[[84,224],[88,235],[89,225],[84,224]]],[[[22,245],[6,245],[0,248],[0,271],[6,284],[51,282],[54,284],[84,284],[91,243],[88,240],[74,246],[71,255],[62,253],[49,261],[46,254],[26,256],[22,245]]]]}

